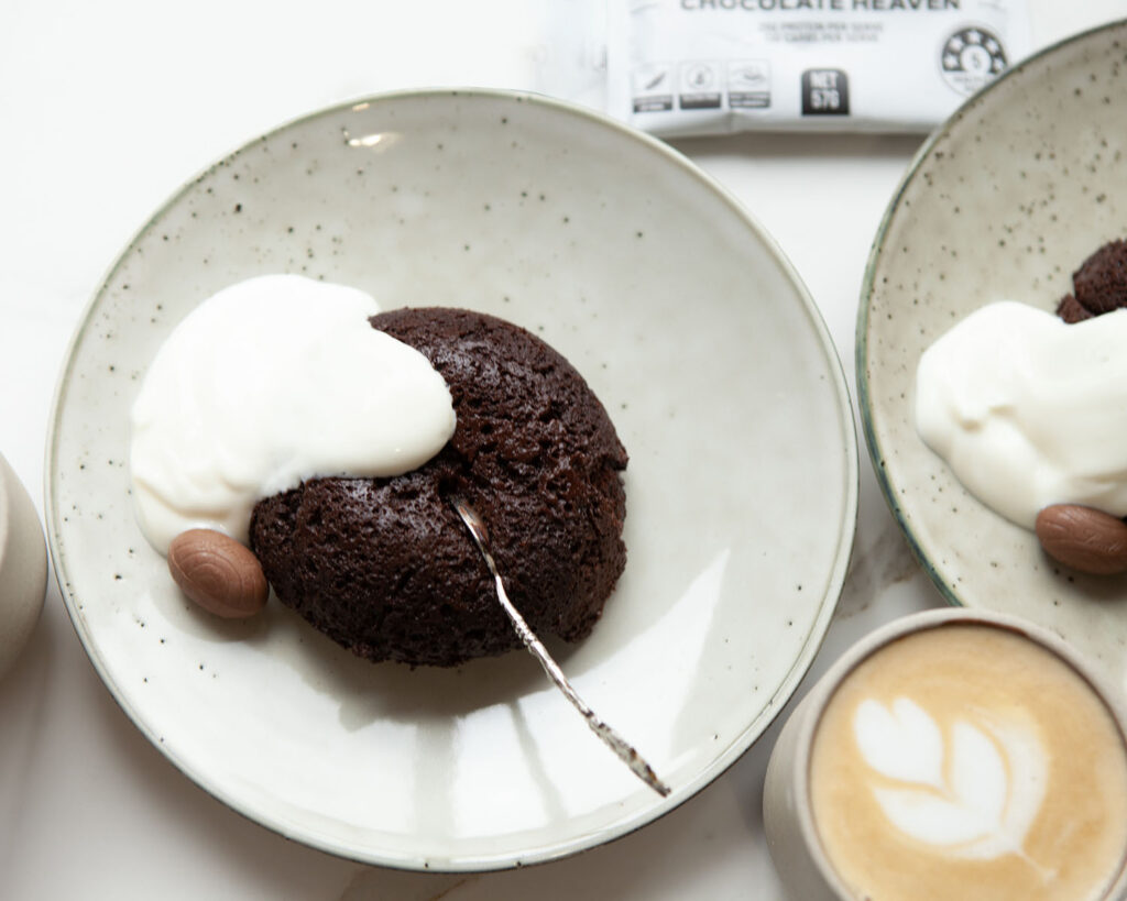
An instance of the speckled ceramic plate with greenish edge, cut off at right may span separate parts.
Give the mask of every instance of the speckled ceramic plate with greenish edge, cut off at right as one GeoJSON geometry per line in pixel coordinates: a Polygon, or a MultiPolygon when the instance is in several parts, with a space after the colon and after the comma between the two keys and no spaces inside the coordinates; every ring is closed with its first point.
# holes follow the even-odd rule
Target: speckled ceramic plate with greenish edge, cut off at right
{"type": "Polygon", "coordinates": [[[923,146],[864,277],[857,374],[877,476],[955,604],[1024,616],[1127,680],[1127,579],[1054,564],[920,439],[916,363],[986,303],[1054,310],[1072,273],[1127,235],[1127,23],[1065,41],[971,98],[923,146]]]}

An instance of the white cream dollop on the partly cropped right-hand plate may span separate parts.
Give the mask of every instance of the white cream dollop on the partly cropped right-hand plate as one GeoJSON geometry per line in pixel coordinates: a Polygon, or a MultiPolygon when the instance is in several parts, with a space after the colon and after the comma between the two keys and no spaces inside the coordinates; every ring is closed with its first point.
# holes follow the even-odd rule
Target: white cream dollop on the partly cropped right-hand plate
{"type": "Polygon", "coordinates": [[[1054,503],[1127,516],[1127,310],[1070,325],[987,304],[924,351],[915,392],[920,436],[1011,521],[1054,503]]]}

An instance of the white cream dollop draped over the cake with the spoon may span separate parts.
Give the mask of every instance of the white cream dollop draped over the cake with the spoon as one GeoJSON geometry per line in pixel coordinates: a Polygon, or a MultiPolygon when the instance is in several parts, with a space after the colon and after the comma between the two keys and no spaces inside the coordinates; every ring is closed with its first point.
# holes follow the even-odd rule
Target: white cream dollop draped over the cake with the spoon
{"type": "Polygon", "coordinates": [[[450,391],[371,327],[378,312],[356,288],[268,275],[176,327],[132,412],[134,503],[158,551],[197,527],[246,542],[261,498],[314,476],[399,475],[442,449],[450,391]]]}

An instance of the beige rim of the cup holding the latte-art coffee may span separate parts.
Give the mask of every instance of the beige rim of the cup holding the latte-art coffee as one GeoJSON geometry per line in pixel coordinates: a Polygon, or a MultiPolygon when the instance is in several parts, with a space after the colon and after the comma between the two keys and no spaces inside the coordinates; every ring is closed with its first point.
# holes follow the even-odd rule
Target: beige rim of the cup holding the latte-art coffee
{"type": "MultiPolygon", "coordinates": [[[[1115,721],[1119,740],[1122,742],[1125,753],[1127,753],[1127,706],[1125,706],[1124,701],[1072,645],[1048,628],[1010,614],[967,607],[923,610],[902,616],[880,626],[845,651],[818,680],[818,684],[802,702],[806,710],[801,721],[797,724],[799,732],[793,769],[790,776],[795,791],[795,815],[798,818],[798,828],[814,865],[818,868],[826,885],[842,901],[858,901],[858,899],[850,892],[841,876],[837,875],[837,871],[829,863],[829,856],[823,847],[822,837],[818,835],[814,821],[809,779],[814,737],[829,699],[861,663],[899,639],[949,625],[978,625],[1000,628],[1021,635],[1054,654],[1067,664],[1103,703],[1115,721]]],[[[1111,875],[1108,887],[1100,899],[1101,901],[1113,901],[1113,899],[1120,898],[1125,889],[1127,889],[1127,847],[1124,848],[1119,858],[1119,867],[1111,875]]]]}

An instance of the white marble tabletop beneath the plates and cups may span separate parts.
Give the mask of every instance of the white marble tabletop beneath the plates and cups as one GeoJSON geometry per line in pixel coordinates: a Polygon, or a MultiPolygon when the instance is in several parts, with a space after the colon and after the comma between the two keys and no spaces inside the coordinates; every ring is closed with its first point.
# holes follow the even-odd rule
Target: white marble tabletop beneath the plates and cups
{"type": "MultiPolygon", "coordinates": [[[[118,250],[189,175],[317,107],[414,86],[539,88],[559,47],[540,3],[6,0],[0,6],[0,452],[42,511],[51,396],[78,316],[118,250]]],[[[1035,3],[1038,43],[1124,0],[1035,3]]],[[[578,95],[597,100],[597,90],[578,95]]],[[[853,386],[869,244],[921,139],[744,135],[677,144],[743,200],[806,280],[853,386]]],[[[939,594],[908,555],[862,449],[851,574],[804,683],[939,594]]],[[[800,689],[801,695],[804,689],[800,689]]],[[[786,716],[783,712],[780,721],[786,716]]],[[[294,845],[233,813],[128,722],[48,588],[0,681],[0,896],[10,899],[777,899],[762,838],[779,722],[724,777],[610,846],[530,869],[417,875],[294,845]]]]}

